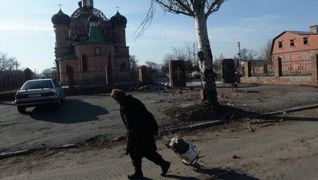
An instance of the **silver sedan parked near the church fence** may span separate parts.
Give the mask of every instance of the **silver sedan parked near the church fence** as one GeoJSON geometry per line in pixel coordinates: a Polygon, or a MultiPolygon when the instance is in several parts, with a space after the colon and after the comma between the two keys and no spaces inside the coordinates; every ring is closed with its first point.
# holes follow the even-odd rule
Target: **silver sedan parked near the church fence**
{"type": "Polygon", "coordinates": [[[60,108],[61,101],[65,100],[62,85],[54,79],[37,79],[26,81],[16,94],[16,106],[20,113],[27,107],[36,107],[43,104],[53,104],[60,108]]]}

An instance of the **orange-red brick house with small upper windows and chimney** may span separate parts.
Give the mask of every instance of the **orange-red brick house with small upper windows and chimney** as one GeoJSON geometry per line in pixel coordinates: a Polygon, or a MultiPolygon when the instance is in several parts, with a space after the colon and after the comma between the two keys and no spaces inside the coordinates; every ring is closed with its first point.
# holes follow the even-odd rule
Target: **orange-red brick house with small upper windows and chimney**
{"type": "Polygon", "coordinates": [[[310,31],[284,31],[273,39],[273,59],[284,61],[311,59],[318,53],[318,26],[310,26],[310,31]]]}

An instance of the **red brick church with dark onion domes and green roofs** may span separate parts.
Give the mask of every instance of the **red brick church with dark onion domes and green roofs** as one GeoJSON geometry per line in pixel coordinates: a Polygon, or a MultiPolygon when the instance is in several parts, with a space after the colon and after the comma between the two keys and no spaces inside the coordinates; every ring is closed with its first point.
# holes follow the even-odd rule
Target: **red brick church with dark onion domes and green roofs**
{"type": "MultiPolygon", "coordinates": [[[[129,69],[129,47],[126,46],[127,19],[117,13],[109,20],[94,8],[93,0],[81,0],[71,16],[60,11],[52,16],[55,32],[55,63],[60,81],[66,82],[68,69],[82,79],[83,74],[96,77],[108,70],[129,69]],[[95,74],[94,74],[95,73],[95,74]]],[[[87,75],[86,75],[87,76],[87,75]]],[[[113,74],[115,76],[115,74],[113,74]]],[[[116,78],[116,77],[113,77],[116,78]]]]}

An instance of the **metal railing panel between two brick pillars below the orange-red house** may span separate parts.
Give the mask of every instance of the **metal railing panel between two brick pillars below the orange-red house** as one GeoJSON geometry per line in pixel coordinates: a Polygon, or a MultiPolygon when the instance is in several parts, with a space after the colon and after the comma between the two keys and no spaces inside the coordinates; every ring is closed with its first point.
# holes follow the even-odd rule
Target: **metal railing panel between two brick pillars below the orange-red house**
{"type": "Polygon", "coordinates": [[[312,60],[282,61],[283,76],[310,76],[312,60]]]}

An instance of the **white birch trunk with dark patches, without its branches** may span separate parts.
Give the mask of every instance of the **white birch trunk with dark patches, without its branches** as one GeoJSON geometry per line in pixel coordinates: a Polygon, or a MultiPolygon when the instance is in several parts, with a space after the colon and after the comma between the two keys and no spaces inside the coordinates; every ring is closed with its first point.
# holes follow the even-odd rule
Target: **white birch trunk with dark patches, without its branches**
{"type": "Polygon", "coordinates": [[[212,65],[212,52],[207,34],[204,4],[194,4],[194,22],[198,41],[198,61],[201,72],[201,99],[211,105],[218,104],[212,65]]]}

